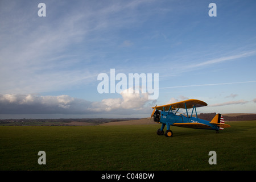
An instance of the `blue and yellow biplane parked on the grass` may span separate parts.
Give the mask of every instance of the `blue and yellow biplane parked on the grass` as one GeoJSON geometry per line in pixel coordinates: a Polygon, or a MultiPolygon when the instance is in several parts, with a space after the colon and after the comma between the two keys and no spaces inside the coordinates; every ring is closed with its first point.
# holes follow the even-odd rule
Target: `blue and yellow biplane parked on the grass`
{"type": "Polygon", "coordinates": [[[218,133],[219,130],[230,127],[230,125],[225,124],[221,114],[216,114],[212,121],[206,121],[204,119],[198,118],[196,108],[203,106],[207,106],[207,103],[195,99],[176,102],[174,104],[167,104],[163,106],[156,105],[155,107],[152,107],[154,110],[150,119],[154,117],[155,122],[162,123],[162,127],[158,129],[156,133],[158,135],[164,134],[166,137],[172,137],[170,126],[216,130],[216,133],[218,133]],[[188,114],[189,109],[192,109],[191,114],[188,114]],[[185,112],[180,113],[179,110],[184,110],[185,112]],[[195,114],[193,115],[194,111],[195,114]],[[167,130],[164,133],[165,126],[167,127],[167,130]]]}

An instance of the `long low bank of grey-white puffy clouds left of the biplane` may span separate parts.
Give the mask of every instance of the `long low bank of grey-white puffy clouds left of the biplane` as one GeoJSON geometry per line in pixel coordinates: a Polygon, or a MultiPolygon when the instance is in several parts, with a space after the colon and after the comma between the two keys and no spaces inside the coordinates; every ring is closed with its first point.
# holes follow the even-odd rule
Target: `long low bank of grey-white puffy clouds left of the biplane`
{"type": "Polygon", "coordinates": [[[146,114],[150,110],[148,94],[124,92],[121,92],[121,98],[108,98],[101,102],[68,95],[0,94],[0,114],[108,114],[110,111],[111,114],[129,114],[132,111],[146,114]]]}

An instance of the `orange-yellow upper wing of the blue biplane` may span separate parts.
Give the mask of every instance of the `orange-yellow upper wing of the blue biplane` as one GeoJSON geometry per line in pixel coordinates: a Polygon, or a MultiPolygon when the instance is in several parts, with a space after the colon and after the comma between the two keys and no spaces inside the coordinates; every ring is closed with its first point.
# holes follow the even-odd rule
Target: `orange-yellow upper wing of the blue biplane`
{"type": "Polygon", "coordinates": [[[195,99],[189,99],[186,101],[181,101],[181,102],[176,102],[174,104],[167,104],[167,105],[163,105],[163,106],[157,106],[157,107],[152,107],[153,109],[156,108],[158,110],[163,110],[163,107],[165,110],[169,110],[170,107],[172,107],[172,109],[175,108],[183,108],[185,109],[186,107],[187,109],[193,108],[193,106],[195,107],[203,107],[203,106],[207,106],[207,104],[203,101],[200,100],[195,100],[195,99]]]}

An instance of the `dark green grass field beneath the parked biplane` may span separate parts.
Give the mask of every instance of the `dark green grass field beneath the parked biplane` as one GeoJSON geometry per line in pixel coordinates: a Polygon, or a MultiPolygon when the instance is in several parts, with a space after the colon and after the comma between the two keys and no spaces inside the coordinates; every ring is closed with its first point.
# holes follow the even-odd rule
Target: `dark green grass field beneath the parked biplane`
{"type": "Polygon", "coordinates": [[[171,127],[171,138],[160,125],[0,126],[0,170],[255,170],[256,121],[226,123],[219,134],[171,127]]]}

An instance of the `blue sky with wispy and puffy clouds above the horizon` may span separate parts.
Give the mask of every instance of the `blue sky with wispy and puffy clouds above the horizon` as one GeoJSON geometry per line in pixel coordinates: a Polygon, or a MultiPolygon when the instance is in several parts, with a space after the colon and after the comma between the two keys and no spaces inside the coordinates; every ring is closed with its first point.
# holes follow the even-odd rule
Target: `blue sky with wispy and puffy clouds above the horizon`
{"type": "Polygon", "coordinates": [[[249,0],[1,0],[0,119],[143,118],[152,106],[191,98],[208,104],[197,113],[256,113],[255,7],[249,0]],[[100,93],[101,73],[109,87],[118,73],[158,74],[147,80],[158,84],[158,97],[149,100],[142,84],[139,93],[100,93]]]}

